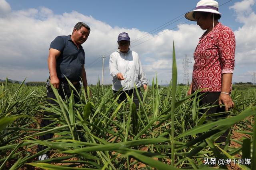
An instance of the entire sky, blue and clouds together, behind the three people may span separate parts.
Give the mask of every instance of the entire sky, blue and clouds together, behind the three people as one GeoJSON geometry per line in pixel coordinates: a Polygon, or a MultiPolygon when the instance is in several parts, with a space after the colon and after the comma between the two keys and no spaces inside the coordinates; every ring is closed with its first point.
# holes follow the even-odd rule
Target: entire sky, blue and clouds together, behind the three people
{"type": "MultiPolygon", "coordinates": [[[[222,18],[236,35],[236,66],[233,82],[252,80],[256,71],[255,0],[219,0],[222,18]]],[[[186,20],[184,13],[195,8],[198,0],[0,0],[0,79],[44,81],[48,77],[47,57],[50,42],[58,35],[68,35],[78,21],[88,23],[92,31],[83,44],[86,50],[88,82],[95,84],[102,72],[103,54],[107,57],[104,83],[110,84],[110,53],[117,48],[118,33],[126,31],[135,41],[131,49],[140,55],[147,78],[157,73],[160,84],[171,79],[172,41],[176,45],[178,81],[182,82],[184,55],[192,59],[203,30],[186,20]],[[180,16],[180,17],[179,17],[180,16]],[[176,17],[176,22],[172,20],[176,17]],[[171,22],[169,22],[171,21],[171,22]],[[168,23],[169,22],[169,23],[168,23]],[[166,27],[160,27],[166,24],[166,27]],[[176,27],[177,25],[180,25],[176,27]],[[158,28],[158,31],[150,31],[158,28]],[[175,28],[176,27],[176,28],[175,28]],[[6,29],[9,28],[9,29],[6,29]],[[173,29],[174,28],[174,29],[173,29]],[[143,35],[151,33],[141,39],[143,35]],[[145,42],[144,42],[145,41],[145,42]]],[[[174,20],[175,21],[175,20],[174,20]]],[[[192,60],[193,62],[193,60],[192,60]]],[[[192,73],[192,64],[189,67],[192,73]]]]}

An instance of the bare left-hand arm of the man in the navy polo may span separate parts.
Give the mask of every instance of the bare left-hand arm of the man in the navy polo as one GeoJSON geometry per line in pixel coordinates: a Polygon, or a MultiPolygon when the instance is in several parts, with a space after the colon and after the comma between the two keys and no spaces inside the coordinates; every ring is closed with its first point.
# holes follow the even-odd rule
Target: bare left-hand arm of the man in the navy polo
{"type": "Polygon", "coordinates": [[[60,80],[57,77],[57,72],[56,72],[56,61],[58,59],[58,57],[60,56],[60,51],[56,50],[56,49],[50,49],[49,50],[49,56],[48,56],[48,68],[50,71],[50,83],[52,83],[52,85],[55,88],[59,88],[60,86],[60,80]]]}

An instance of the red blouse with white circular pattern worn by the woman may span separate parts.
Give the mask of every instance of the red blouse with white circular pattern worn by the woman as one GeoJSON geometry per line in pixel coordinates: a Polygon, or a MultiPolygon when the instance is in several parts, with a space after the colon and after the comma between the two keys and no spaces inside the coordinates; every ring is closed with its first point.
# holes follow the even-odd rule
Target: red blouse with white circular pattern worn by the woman
{"type": "Polygon", "coordinates": [[[194,52],[193,90],[207,88],[202,92],[220,92],[222,74],[233,73],[235,48],[233,31],[221,23],[202,35],[194,52]]]}

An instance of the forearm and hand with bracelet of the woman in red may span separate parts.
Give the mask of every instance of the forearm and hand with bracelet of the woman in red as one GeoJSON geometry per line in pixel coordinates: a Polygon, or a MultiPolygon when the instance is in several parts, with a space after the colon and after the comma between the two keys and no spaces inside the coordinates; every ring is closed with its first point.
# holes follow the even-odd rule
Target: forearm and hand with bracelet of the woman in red
{"type": "MultiPolygon", "coordinates": [[[[230,86],[232,83],[232,73],[222,74],[222,84],[221,92],[228,93],[230,92],[230,86]]],[[[225,105],[225,110],[231,109],[234,107],[234,102],[232,101],[230,95],[221,93],[219,97],[219,104],[225,105]]]]}

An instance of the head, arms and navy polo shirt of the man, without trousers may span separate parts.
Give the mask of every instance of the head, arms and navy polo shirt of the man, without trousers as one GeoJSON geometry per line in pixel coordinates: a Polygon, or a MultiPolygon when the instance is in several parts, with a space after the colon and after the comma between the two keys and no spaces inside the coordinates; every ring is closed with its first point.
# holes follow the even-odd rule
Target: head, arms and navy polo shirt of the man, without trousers
{"type": "Polygon", "coordinates": [[[55,88],[65,76],[75,84],[82,78],[84,88],[87,87],[86,72],[84,70],[84,49],[82,43],[90,34],[90,27],[78,22],[72,35],[58,36],[52,41],[48,56],[50,82],[55,88]]]}

